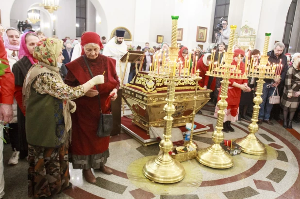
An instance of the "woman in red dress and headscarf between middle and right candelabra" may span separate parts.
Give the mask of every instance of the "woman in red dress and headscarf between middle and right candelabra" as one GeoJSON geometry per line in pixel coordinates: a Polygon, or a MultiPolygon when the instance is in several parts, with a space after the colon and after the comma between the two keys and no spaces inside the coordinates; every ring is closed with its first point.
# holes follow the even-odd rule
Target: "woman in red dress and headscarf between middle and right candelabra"
{"type": "MultiPolygon", "coordinates": [[[[233,56],[233,62],[232,65],[238,65],[240,63],[240,70],[242,74],[244,74],[245,71],[245,63],[242,61],[245,56],[244,50],[236,49],[234,50],[234,56],[233,56]]],[[[228,133],[234,132],[233,127],[230,125],[231,122],[235,122],[238,119],[238,107],[240,103],[241,98],[241,91],[244,92],[251,92],[250,87],[247,85],[247,79],[229,79],[229,86],[228,86],[228,98],[226,99],[228,106],[224,110],[225,111],[225,117],[223,122],[223,132],[228,133]]],[[[222,90],[222,86],[219,90],[218,94],[218,101],[220,98],[220,93],[222,90]]],[[[216,107],[215,110],[215,117],[217,117],[217,111],[219,110],[218,107],[216,107]]]]}

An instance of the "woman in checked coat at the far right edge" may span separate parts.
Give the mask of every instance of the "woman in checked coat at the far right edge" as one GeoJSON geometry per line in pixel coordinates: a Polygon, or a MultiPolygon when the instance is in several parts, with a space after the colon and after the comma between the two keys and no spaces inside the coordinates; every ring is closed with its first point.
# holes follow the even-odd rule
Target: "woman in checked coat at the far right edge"
{"type": "Polygon", "coordinates": [[[286,73],[281,107],[283,108],[283,127],[292,129],[292,121],[300,104],[300,59],[294,61],[286,73]],[[289,120],[287,115],[289,113],[289,120]]]}

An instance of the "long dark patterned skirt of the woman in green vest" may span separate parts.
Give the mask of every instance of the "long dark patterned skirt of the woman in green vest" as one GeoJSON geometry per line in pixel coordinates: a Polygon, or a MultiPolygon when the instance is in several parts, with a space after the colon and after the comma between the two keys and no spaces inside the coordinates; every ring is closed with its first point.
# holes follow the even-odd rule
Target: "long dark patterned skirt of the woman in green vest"
{"type": "Polygon", "coordinates": [[[68,151],[28,145],[28,197],[49,197],[69,185],[68,151]]]}

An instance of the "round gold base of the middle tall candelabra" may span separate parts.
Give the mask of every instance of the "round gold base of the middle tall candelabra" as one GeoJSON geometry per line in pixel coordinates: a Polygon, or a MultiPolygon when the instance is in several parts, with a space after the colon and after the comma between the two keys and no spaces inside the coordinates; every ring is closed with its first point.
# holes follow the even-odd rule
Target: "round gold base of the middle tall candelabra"
{"type": "Polygon", "coordinates": [[[226,153],[219,143],[199,151],[196,159],[201,164],[212,168],[230,168],[233,166],[233,157],[226,153]]]}

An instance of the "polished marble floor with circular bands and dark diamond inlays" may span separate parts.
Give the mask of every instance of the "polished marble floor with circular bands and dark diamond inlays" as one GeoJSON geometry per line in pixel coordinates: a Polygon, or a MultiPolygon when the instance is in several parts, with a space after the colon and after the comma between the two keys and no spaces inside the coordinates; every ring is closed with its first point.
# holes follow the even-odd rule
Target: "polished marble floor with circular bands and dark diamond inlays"
{"type": "MultiPolygon", "coordinates": [[[[210,127],[206,134],[194,137],[200,149],[210,146],[216,118],[214,106],[202,108],[195,121],[210,127]]],[[[126,110],[125,114],[130,114],[126,110]]],[[[266,145],[267,154],[253,156],[246,153],[233,156],[234,166],[214,169],[201,165],[196,159],[183,162],[186,176],[176,184],[149,181],[141,169],[150,156],[159,153],[158,144],[142,146],[122,132],[112,136],[107,166],[112,175],[94,170],[96,184],[85,182],[82,171],[70,165],[72,189],[51,199],[300,199],[300,123],[294,129],[284,129],[281,122],[274,126],[260,125],[257,137],[266,145]]],[[[248,122],[232,124],[234,133],[225,133],[225,139],[241,138],[248,133],[248,122]]],[[[10,145],[4,145],[5,199],[27,198],[27,162],[20,160],[9,166],[10,145]]]]}

